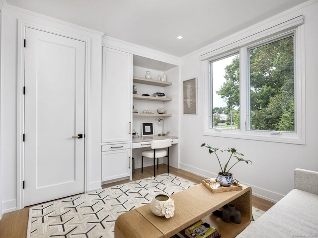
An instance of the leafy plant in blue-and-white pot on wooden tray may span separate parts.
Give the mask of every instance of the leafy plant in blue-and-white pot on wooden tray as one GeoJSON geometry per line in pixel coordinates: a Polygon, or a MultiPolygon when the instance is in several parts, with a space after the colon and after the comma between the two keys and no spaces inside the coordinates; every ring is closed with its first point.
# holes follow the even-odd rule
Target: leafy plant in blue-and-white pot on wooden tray
{"type": "Polygon", "coordinates": [[[238,162],[240,161],[245,161],[246,163],[250,162],[252,163],[252,161],[248,160],[248,159],[243,159],[240,157],[243,157],[244,155],[242,153],[237,152],[237,150],[235,148],[229,148],[227,150],[220,150],[219,148],[215,148],[212,147],[206,143],[202,144],[201,147],[205,146],[206,148],[209,149],[209,153],[212,154],[214,153],[215,156],[217,157],[220,167],[221,167],[221,172],[219,172],[219,175],[217,176],[217,180],[220,183],[220,185],[222,186],[231,186],[232,183],[234,182],[233,179],[233,174],[230,173],[229,171],[231,170],[231,168],[233,168],[234,165],[236,165],[238,162]],[[217,151],[221,151],[222,153],[224,151],[230,152],[230,158],[228,159],[228,161],[225,163],[224,167],[222,167],[220,159],[218,157],[217,151]],[[240,156],[240,157],[239,157],[240,156]],[[229,167],[229,162],[231,160],[232,157],[235,157],[238,159],[238,161],[236,161],[231,167],[229,167]]]}

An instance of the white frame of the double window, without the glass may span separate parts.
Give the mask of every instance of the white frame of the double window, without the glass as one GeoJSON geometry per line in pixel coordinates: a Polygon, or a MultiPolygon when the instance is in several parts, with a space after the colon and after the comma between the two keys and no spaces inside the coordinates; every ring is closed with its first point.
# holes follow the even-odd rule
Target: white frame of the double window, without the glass
{"type": "Polygon", "coordinates": [[[304,17],[298,16],[259,32],[245,36],[231,44],[218,47],[216,50],[201,56],[204,80],[204,128],[203,135],[230,137],[239,139],[270,141],[306,145],[305,115],[305,34],[304,17]],[[249,63],[248,50],[256,46],[294,35],[294,90],[295,90],[295,132],[275,132],[249,130],[249,63]],[[210,126],[211,62],[231,56],[239,52],[239,89],[240,89],[240,129],[219,129],[210,126]]]}

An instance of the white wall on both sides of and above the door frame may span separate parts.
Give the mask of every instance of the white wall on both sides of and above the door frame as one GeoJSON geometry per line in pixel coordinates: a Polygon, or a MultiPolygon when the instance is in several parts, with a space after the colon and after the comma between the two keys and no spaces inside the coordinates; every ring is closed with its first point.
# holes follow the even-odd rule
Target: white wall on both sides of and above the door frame
{"type": "MultiPolygon", "coordinates": [[[[2,164],[2,212],[19,208],[17,204],[17,66],[18,66],[18,20],[42,25],[54,31],[72,34],[90,41],[88,59],[88,105],[87,105],[87,190],[101,187],[101,35],[85,31],[82,27],[70,27],[44,18],[4,9],[2,12],[2,54],[1,54],[1,151],[2,164]]],[[[75,37],[76,38],[76,37],[75,37]]]]}

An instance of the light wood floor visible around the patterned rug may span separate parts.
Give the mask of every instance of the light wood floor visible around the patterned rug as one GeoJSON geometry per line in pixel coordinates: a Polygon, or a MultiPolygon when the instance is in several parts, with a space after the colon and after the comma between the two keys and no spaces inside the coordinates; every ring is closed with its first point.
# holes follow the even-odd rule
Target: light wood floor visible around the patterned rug
{"type": "MultiPolygon", "coordinates": [[[[135,169],[135,173],[133,173],[133,181],[148,178],[153,176],[153,166],[144,167],[144,172],[141,173],[141,169],[137,168],[135,169]]],[[[160,164],[159,169],[157,170],[157,174],[166,173],[166,165],[160,164]]],[[[188,179],[195,183],[201,183],[203,177],[186,172],[181,169],[170,167],[169,169],[170,173],[173,173],[175,175],[178,175],[180,177],[183,177],[185,179],[188,179]]],[[[115,186],[122,183],[127,183],[130,180],[122,180],[119,182],[109,183],[102,186],[102,188],[107,188],[111,186],[115,186]]],[[[267,200],[258,198],[253,196],[253,207],[256,207],[260,210],[267,211],[269,208],[271,208],[274,205],[274,203],[269,202],[267,200]]],[[[26,237],[26,231],[27,231],[27,224],[28,224],[28,216],[29,216],[29,208],[25,207],[21,210],[5,213],[2,216],[2,219],[0,220],[0,238],[25,238],[26,237]]]]}

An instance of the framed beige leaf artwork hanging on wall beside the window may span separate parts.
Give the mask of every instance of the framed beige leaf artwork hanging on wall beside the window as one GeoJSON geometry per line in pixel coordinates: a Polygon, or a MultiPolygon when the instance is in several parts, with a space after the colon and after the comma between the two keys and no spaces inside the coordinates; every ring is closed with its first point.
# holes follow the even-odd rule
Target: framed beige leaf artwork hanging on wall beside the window
{"type": "Polygon", "coordinates": [[[183,81],[183,115],[197,114],[197,91],[197,78],[183,81]]]}

